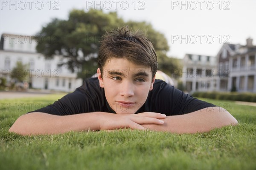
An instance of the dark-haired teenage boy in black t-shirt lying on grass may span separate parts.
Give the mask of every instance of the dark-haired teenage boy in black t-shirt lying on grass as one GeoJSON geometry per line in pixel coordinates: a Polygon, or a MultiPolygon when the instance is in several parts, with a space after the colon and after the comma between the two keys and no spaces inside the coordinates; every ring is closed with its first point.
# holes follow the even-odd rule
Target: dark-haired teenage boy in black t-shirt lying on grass
{"type": "Polygon", "coordinates": [[[20,116],[9,131],[31,135],[131,128],[197,133],[238,124],[227,110],[155,80],[152,43],[128,27],[103,36],[98,65],[98,78],[88,78],[54,104],[20,116]]]}

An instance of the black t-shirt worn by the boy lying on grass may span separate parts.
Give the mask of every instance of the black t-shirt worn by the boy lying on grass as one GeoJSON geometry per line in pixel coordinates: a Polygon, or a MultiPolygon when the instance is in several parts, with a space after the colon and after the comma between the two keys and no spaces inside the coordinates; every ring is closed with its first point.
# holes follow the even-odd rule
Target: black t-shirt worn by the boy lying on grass
{"type": "MultiPolygon", "coordinates": [[[[149,91],[145,104],[136,113],[158,112],[166,115],[182,115],[206,107],[215,107],[215,105],[193,98],[162,80],[155,80],[154,88],[149,91]]],[[[86,112],[115,113],[105,98],[104,89],[99,86],[98,78],[86,79],[84,84],[74,92],[33,112],[45,112],[52,115],[73,115],[86,112]]]]}

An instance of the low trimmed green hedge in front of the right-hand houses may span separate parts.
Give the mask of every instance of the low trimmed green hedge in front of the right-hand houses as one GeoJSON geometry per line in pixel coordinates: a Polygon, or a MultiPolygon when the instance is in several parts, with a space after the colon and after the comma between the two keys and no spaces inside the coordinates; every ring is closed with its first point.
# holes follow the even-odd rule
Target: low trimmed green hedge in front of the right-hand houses
{"type": "Polygon", "coordinates": [[[239,93],[239,92],[194,92],[194,97],[199,98],[212,98],[217,100],[229,101],[248,101],[256,102],[255,93],[239,93]]]}

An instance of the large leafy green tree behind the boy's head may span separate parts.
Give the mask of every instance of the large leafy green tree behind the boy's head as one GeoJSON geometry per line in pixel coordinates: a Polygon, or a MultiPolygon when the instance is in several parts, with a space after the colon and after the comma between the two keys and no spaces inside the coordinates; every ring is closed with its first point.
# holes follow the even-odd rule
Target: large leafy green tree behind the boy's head
{"type": "MultiPolygon", "coordinates": [[[[62,55],[64,60],[61,65],[66,64],[74,72],[78,71],[79,78],[92,76],[97,69],[97,53],[99,41],[106,31],[128,25],[136,31],[143,28],[148,34],[148,38],[153,42],[157,54],[159,54],[161,69],[163,64],[169,60],[166,51],[169,50],[167,40],[163,34],[155,31],[151,24],[145,22],[128,21],[125,23],[119,18],[116,12],[108,14],[101,10],[74,9],[70,12],[68,20],[53,19],[52,22],[44,26],[38,33],[39,36],[36,49],[46,58],[52,58],[54,55],[62,55]]],[[[176,65],[172,64],[166,70],[173,69],[176,65]]],[[[163,70],[164,71],[164,70],[163,70]]],[[[168,73],[167,73],[168,74],[168,73]]]]}

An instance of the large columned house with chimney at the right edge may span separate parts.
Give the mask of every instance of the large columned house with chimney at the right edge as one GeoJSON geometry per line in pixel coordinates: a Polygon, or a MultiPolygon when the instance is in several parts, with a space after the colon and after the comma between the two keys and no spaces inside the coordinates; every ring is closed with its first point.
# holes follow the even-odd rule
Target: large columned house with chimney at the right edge
{"type": "Polygon", "coordinates": [[[256,92],[256,46],[248,38],[245,46],[224,44],[217,54],[218,91],[256,92]]]}

